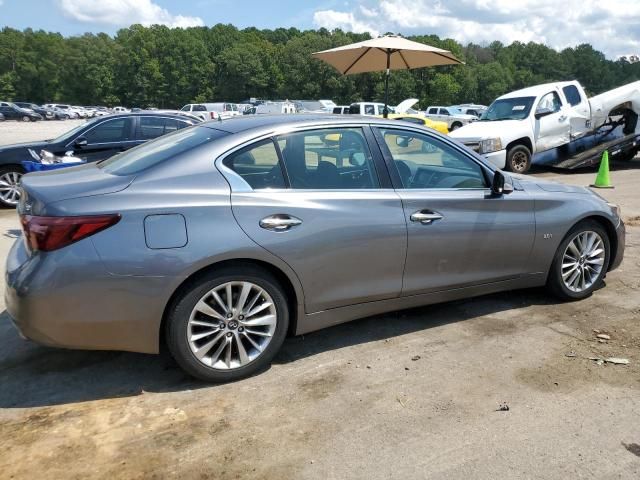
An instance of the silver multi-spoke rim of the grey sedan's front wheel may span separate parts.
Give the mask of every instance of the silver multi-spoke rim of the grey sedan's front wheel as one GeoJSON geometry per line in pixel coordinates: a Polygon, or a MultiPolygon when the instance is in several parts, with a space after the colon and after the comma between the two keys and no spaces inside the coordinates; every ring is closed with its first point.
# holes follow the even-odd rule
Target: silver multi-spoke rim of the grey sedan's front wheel
{"type": "Polygon", "coordinates": [[[588,230],[571,239],[562,256],[562,281],[572,292],[591,288],[602,273],[605,245],[600,235],[588,230]]]}

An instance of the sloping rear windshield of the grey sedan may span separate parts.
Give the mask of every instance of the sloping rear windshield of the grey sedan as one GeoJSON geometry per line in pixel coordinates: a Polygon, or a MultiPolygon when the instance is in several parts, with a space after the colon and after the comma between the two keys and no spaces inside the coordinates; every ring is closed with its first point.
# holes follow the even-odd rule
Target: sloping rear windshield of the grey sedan
{"type": "Polygon", "coordinates": [[[208,127],[185,128],[103,160],[98,167],[113,175],[133,175],[226,135],[208,127]]]}

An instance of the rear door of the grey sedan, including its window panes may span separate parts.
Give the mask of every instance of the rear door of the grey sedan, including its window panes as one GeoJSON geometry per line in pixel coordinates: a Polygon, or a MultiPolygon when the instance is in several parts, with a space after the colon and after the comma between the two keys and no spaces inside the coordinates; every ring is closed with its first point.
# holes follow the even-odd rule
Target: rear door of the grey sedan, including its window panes
{"type": "Polygon", "coordinates": [[[238,223],[296,272],[308,313],[402,289],[402,204],[367,135],[357,126],[300,130],[219,160],[238,223]]]}

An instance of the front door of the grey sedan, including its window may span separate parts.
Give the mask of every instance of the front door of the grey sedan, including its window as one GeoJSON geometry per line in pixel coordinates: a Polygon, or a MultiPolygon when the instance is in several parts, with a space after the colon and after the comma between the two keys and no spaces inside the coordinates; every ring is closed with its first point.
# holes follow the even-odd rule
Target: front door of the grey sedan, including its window
{"type": "Polygon", "coordinates": [[[535,235],[530,196],[519,190],[492,195],[492,172],[480,160],[409,128],[375,129],[407,221],[402,295],[526,273],[535,235]]]}

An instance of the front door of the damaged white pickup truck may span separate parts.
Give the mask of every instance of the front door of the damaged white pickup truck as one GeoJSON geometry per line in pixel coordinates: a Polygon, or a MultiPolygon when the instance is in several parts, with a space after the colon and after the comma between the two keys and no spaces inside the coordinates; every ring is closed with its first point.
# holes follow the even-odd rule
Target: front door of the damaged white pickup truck
{"type": "Polygon", "coordinates": [[[543,152],[571,141],[571,125],[566,108],[558,92],[549,92],[540,98],[534,114],[536,150],[543,152]]]}

